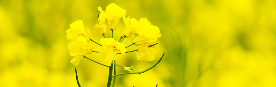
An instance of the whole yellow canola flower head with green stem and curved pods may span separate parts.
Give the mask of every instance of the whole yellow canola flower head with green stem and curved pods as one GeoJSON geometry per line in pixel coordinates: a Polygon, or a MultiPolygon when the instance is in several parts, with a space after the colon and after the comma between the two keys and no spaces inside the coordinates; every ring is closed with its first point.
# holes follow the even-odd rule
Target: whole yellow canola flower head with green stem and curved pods
{"type": "MultiPolygon", "coordinates": [[[[150,22],[147,20],[147,18],[141,18],[139,21],[137,21],[135,18],[125,17],[126,10],[122,9],[120,6],[116,5],[115,3],[109,4],[105,11],[102,10],[102,7],[97,7],[98,11],[98,21],[99,24],[96,24],[94,27],[96,29],[100,30],[100,35],[103,35],[103,38],[100,39],[100,43],[95,42],[92,40],[92,34],[89,28],[84,27],[83,21],[78,20],[70,24],[70,29],[66,31],[67,33],[67,39],[71,40],[72,42],[69,42],[68,44],[68,50],[69,54],[71,56],[75,56],[73,59],[71,59],[71,63],[75,66],[78,66],[79,61],[81,58],[87,58],[95,63],[98,63],[100,65],[103,65],[105,67],[109,68],[108,73],[108,82],[107,87],[111,86],[112,78],[113,78],[113,87],[115,85],[115,78],[118,75],[125,75],[125,74],[142,74],[144,72],[147,72],[148,70],[155,67],[163,58],[163,55],[158,60],[156,64],[154,64],[152,67],[139,72],[132,72],[134,70],[134,66],[127,67],[127,66],[120,66],[119,64],[115,63],[115,56],[119,54],[125,54],[129,52],[137,51],[136,58],[138,61],[153,61],[155,59],[155,52],[156,52],[156,44],[153,44],[158,37],[161,37],[160,30],[157,26],[151,25],[150,22]],[[99,14],[100,12],[100,14],[99,14]],[[113,38],[113,30],[116,29],[117,24],[120,20],[120,18],[123,17],[123,22],[125,24],[124,32],[122,32],[122,36],[117,41],[115,38],[113,38]],[[112,37],[106,38],[105,34],[107,34],[107,25],[105,25],[107,19],[108,22],[108,28],[112,31],[112,37]],[[139,36],[135,37],[134,34],[139,34],[139,36]],[[124,38],[131,39],[129,37],[133,37],[133,43],[126,46],[123,43],[124,38]],[[87,42],[89,41],[97,43],[99,46],[101,46],[99,49],[96,49],[98,51],[94,51],[93,47],[87,46],[87,42]],[[130,47],[132,45],[136,45],[137,49],[126,51],[127,47],[130,47]],[[99,53],[99,55],[102,56],[102,59],[106,61],[107,63],[102,64],[100,62],[94,61],[93,59],[88,58],[87,54],[91,54],[92,52],[99,53]],[[114,65],[114,75],[113,74],[113,65],[114,65]],[[123,70],[128,71],[128,73],[121,73],[116,74],[115,72],[115,66],[119,66],[123,68],[123,70]]],[[[135,58],[135,57],[134,57],[135,58]]],[[[80,86],[77,76],[77,71],[75,67],[76,72],[76,79],[78,86],[80,86]]]]}

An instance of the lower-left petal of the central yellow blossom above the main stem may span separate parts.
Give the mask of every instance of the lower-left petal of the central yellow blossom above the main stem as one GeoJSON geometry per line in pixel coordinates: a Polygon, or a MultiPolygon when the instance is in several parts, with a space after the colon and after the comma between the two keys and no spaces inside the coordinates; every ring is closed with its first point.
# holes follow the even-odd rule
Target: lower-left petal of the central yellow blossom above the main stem
{"type": "Polygon", "coordinates": [[[99,54],[103,57],[104,61],[107,61],[108,59],[112,58],[113,49],[112,49],[112,47],[110,47],[108,45],[104,45],[104,46],[100,47],[99,54]]]}

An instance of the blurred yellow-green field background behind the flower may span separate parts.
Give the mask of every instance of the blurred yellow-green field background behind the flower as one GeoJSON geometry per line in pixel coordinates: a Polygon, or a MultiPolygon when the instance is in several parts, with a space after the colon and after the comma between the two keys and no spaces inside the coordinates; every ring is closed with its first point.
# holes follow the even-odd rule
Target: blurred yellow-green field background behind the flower
{"type": "MultiPolygon", "coordinates": [[[[103,36],[94,27],[99,23],[96,7],[105,11],[113,2],[126,10],[126,17],[145,17],[162,34],[154,61],[137,61],[132,52],[116,55],[117,64],[134,66],[133,72],[139,72],[166,51],[148,72],[117,76],[115,87],[276,86],[275,0],[1,0],[0,86],[77,87],[65,31],[83,20],[92,39],[100,42],[103,36]]],[[[115,39],[124,27],[121,18],[115,39]]],[[[123,43],[127,46],[132,40],[123,43]]],[[[88,44],[99,50],[99,45],[88,44]]],[[[105,62],[98,53],[86,56],[105,62]]],[[[106,86],[107,67],[86,58],[76,67],[81,86],[106,86]]],[[[117,74],[127,72],[116,68],[117,74]]]]}

